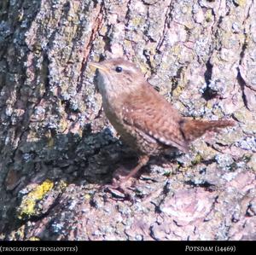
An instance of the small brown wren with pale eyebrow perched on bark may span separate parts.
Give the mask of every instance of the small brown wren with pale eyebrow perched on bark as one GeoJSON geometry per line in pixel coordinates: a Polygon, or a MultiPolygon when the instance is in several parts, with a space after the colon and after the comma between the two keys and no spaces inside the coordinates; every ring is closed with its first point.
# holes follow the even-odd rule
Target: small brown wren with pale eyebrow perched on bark
{"type": "Polygon", "coordinates": [[[188,152],[189,142],[207,130],[234,125],[231,120],[195,120],[183,118],[177,109],[148,84],[133,63],[122,58],[91,62],[98,69],[97,87],[110,123],[121,139],[134,149],[139,163],[130,174],[134,176],[149,156],[177,148],[188,152]]]}

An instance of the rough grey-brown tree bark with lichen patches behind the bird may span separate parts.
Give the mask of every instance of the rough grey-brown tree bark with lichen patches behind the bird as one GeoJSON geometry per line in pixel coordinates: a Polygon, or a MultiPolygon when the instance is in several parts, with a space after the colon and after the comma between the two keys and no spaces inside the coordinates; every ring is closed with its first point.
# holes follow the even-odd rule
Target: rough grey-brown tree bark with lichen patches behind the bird
{"type": "Polygon", "coordinates": [[[256,240],[254,0],[2,0],[0,91],[1,239],[256,240]],[[88,67],[119,55],[184,116],[236,120],[129,199],[100,188],[136,157],[88,67]]]}

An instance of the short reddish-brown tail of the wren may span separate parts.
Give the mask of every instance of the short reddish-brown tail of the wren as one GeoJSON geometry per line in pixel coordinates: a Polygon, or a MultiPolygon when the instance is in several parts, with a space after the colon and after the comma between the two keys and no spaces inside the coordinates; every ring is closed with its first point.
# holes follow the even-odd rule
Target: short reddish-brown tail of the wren
{"type": "Polygon", "coordinates": [[[207,131],[218,132],[220,128],[233,126],[235,122],[228,119],[220,120],[199,120],[183,119],[180,123],[183,136],[187,142],[192,142],[196,138],[204,135],[207,131]]]}

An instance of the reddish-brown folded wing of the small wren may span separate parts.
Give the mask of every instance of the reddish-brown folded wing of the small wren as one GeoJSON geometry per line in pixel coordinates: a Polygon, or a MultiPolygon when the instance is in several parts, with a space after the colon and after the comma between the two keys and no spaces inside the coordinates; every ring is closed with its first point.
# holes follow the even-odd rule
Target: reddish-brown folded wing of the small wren
{"type": "Polygon", "coordinates": [[[136,127],[157,142],[188,151],[188,142],[180,130],[181,116],[150,85],[145,84],[143,94],[138,91],[126,98],[122,116],[126,125],[136,127]]]}

